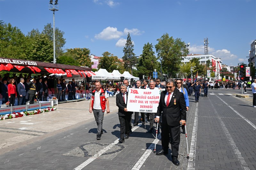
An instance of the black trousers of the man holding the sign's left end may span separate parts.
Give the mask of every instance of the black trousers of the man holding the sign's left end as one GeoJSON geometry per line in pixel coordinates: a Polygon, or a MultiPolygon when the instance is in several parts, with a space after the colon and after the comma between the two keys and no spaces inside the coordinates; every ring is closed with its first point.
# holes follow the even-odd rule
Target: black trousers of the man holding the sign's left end
{"type": "Polygon", "coordinates": [[[118,116],[120,122],[120,139],[124,140],[124,134],[130,135],[130,121],[132,113],[126,112],[125,116],[118,116]]]}

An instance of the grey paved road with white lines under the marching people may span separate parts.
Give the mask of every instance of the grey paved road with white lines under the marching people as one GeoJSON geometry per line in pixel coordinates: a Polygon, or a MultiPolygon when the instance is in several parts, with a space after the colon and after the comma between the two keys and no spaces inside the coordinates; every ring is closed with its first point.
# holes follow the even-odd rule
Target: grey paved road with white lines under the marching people
{"type": "MultiPolygon", "coordinates": [[[[104,134],[96,140],[96,123],[89,101],[60,104],[57,110],[0,121],[0,169],[256,169],[256,109],[252,96],[237,98],[240,90],[209,90],[199,103],[189,97],[188,150],[181,134],[180,166],[168,155],[151,150],[156,134],[133,126],[129,139],[119,144],[120,125],[115,97],[103,121],[104,134]]],[[[247,94],[252,92],[248,90],[247,94]]],[[[133,116],[134,118],[134,116],[133,116]]],[[[156,150],[161,148],[158,135],[156,150]]]]}

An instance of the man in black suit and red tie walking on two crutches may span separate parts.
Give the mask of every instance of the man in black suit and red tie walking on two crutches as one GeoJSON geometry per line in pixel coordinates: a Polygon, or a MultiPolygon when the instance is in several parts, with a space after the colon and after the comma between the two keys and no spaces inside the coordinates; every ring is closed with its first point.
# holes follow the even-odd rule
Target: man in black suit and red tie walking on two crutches
{"type": "Polygon", "coordinates": [[[172,161],[174,165],[180,165],[178,160],[180,145],[180,123],[186,123],[186,103],[183,93],[175,88],[173,79],[166,81],[166,90],[161,92],[157,107],[156,119],[162,115],[161,141],[162,149],[156,155],[168,154],[169,139],[171,137],[172,161]]]}

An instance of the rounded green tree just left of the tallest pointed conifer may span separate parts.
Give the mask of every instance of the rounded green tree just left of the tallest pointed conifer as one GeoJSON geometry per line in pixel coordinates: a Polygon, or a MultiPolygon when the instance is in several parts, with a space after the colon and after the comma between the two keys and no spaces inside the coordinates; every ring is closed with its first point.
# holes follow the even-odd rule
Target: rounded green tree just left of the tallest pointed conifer
{"type": "Polygon", "coordinates": [[[98,69],[103,68],[111,73],[113,70],[118,70],[119,67],[120,61],[117,56],[106,51],[102,54],[102,57],[100,57],[98,69]]]}

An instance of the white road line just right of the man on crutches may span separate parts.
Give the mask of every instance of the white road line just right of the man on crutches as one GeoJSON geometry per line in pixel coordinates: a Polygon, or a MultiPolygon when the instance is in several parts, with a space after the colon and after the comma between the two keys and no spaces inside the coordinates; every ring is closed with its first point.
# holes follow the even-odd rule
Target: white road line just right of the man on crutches
{"type": "Polygon", "coordinates": [[[197,121],[198,121],[198,103],[196,103],[195,119],[194,119],[193,131],[191,136],[187,170],[195,170],[197,121]]]}

